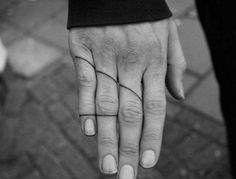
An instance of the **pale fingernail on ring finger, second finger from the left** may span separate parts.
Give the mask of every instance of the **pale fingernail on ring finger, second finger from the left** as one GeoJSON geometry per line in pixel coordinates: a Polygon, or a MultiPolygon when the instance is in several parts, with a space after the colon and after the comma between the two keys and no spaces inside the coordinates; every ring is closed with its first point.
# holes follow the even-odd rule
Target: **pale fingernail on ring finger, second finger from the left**
{"type": "Polygon", "coordinates": [[[102,171],[106,174],[114,174],[117,172],[116,160],[112,155],[106,155],[103,158],[102,171]]]}

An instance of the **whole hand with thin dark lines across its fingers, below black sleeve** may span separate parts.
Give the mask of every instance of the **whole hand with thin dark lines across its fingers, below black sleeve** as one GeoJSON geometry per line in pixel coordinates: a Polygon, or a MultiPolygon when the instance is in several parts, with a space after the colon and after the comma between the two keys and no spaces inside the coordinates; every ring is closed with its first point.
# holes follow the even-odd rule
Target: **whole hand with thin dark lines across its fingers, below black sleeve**
{"type": "Polygon", "coordinates": [[[95,135],[97,126],[101,171],[136,178],[139,161],[150,168],[159,157],[165,82],[175,98],[184,98],[186,62],[175,23],[73,28],[69,44],[82,130],[95,135]]]}

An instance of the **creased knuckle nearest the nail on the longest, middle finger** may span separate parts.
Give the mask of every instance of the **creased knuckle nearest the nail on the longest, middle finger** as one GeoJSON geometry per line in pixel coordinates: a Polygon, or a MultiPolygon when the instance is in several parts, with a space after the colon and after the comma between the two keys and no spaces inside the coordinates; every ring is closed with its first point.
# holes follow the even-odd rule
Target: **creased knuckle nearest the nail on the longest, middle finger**
{"type": "Polygon", "coordinates": [[[133,143],[126,143],[120,148],[120,154],[124,156],[138,156],[139,147],[133,143]]]}

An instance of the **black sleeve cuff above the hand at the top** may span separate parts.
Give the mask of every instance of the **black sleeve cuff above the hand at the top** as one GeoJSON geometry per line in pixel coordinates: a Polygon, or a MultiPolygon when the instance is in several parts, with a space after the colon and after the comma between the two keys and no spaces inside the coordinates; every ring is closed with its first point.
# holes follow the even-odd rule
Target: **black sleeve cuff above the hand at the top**
{"type": "Polygon", "coordinates": [[[157,21],[171,15],[165,0],[69,0],[67,28],[157,21]]]}

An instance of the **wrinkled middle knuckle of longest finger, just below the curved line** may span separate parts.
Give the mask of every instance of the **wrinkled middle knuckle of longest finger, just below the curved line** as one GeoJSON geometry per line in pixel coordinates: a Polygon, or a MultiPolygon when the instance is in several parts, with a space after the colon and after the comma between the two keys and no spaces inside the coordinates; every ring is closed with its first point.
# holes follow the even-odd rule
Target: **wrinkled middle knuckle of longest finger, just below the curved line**
{"type": "Polygon", "coordinates": [[[121,107],[120,116],[124,122],[140,122],[143,117],[142,106],[138,101],[127,102],[121,107]]]}

